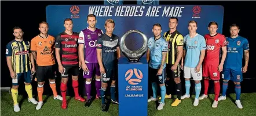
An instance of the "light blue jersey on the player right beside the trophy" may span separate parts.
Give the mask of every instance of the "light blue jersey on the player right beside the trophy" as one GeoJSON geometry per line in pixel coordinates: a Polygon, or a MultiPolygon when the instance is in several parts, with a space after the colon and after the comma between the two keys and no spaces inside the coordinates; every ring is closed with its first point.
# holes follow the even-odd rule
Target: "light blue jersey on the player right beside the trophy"
{"type": "MultiPolygon", "coordinates": [[[[162,52],[168,51],[167,41],[163,37],[160,37],[158,40],[155,40],[154,37],[149,38],[148,48],[150,49],[150,61],[149,67],[153,69],[159,69],[162,62],[162,52]]],[[[164,63],[164,67],[166,64],[164,63]]]]}

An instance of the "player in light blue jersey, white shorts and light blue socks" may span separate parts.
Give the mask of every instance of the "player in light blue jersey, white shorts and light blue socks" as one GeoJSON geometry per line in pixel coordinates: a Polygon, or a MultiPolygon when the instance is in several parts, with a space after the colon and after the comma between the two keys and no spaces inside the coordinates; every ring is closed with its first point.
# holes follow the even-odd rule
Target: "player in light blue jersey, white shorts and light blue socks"
{"type": "Polygon", "coordinates": [[[195,80],[195,90],[196,97],[193,105],[198,106],[199,104],[199,94],[201,91],[202,80],[202,63],[206,51],[206,41],[204,37],[196,33],[198,29],[196,21],[189,21],[188,30],[189,34],[184,37],[184,78],[185,78],[185,95],[181,96],[181,99],[189,98],[189,89],[190,89],[190,78],[192,76],[195,80]]]}

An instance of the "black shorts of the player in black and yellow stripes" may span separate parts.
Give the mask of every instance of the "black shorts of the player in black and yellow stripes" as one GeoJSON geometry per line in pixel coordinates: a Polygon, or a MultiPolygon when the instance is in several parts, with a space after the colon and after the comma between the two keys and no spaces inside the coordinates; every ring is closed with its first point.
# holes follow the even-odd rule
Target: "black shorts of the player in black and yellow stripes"
{"type": "Polygon", "coordinates": [[[178,64],[176,71],[171,70],[172,66],[173,66],[173,64],[166,64],[167,78],[180,78],[180,76],[181,76],[180,64],[178,64]]]}

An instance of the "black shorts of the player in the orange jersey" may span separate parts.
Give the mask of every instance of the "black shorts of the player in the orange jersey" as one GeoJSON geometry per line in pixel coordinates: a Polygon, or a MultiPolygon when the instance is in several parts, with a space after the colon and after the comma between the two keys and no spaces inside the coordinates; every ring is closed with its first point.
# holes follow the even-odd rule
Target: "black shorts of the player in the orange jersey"
{"type": "Polygon", "coordinates": [[[45,78],[47,79],[55,79],[56,70],[55,65],[47,65],[47,66],[39,66],[36,65],[36,81],[37,82],[45,82],[45,78]]]}

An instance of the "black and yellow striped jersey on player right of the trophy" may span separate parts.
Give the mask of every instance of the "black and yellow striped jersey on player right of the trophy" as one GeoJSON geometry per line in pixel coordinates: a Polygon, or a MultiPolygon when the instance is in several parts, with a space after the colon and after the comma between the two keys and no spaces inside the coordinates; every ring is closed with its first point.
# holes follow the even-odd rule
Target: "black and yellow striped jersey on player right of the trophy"
{"type": "Polygon", "coordinates": [[[173,33],[170,33],[170,31],[165,32],[163,37],[168,42],[166,63],[174,64],[178,55],[177,47],[184,44],[183,36],[178,30],[175,30],[173,33]]]}

